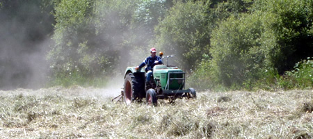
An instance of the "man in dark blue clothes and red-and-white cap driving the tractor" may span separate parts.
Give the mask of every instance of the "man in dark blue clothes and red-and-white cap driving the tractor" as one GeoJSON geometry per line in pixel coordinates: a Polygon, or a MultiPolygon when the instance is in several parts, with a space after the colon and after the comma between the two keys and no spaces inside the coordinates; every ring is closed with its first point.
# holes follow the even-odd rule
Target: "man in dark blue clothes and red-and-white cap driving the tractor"
{"type": "Polygon", "coordinates": [[[151,56],[145,58],[145,60],[143,60],[143,63],[141,63],[141,65],[136,67],[136,70],[140,70],[142,67],[145,67],[145,65],[147,65],[147,67],[145,67],[145,72],[147,73],[147,77],[145,80],[145,85],[148,88],[150,85],[150,79],[153,73],[153,67],[154,65],[160,65],[162,64],[162,59],[160,56],[157,56],[157,49],[155,49],[154,47],[152,47],[152,49],[150,49],[150,53],[151,56]]]}

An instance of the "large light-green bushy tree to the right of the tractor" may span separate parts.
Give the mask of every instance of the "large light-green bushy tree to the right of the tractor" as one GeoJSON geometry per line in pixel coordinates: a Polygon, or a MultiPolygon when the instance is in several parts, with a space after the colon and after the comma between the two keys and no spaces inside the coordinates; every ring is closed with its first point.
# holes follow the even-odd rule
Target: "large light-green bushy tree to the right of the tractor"
{"type": "Polygon", "coordinates": [[[255,1],[248,9],[213,31],[212,58],[204,58],[197,73],[209,69],[210,83],[239,88],[275,83],[277,73],[312,54],[312,1],[255,1]]]}

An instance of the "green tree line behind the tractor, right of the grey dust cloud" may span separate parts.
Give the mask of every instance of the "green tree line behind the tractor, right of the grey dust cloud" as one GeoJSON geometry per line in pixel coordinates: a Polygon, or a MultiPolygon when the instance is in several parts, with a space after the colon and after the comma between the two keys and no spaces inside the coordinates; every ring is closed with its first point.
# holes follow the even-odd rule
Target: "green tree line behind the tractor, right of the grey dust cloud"
{"type": "MultiPolygon", "coordinates": [[[[157,47],[175,56],[170,64],[188,72],[197,89],[312,88],[312,0],[33,3],[54,16],[45,32],[54,27],[45,54],[51,85],[104,84],[157,47]]],[[[14,6],[22,5],[0,2],[1,11],[14,6]]]]}

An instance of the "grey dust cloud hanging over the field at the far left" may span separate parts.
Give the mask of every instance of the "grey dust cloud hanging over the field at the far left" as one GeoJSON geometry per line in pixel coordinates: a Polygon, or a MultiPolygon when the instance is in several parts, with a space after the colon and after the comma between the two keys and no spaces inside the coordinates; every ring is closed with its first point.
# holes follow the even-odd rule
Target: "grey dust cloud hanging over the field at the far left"
{"type": "Polygon", "coordinates": [[[0,89],[40,88],[46,82],[45,54],[54,17],[40,1],[1,1],[0,89]]]}

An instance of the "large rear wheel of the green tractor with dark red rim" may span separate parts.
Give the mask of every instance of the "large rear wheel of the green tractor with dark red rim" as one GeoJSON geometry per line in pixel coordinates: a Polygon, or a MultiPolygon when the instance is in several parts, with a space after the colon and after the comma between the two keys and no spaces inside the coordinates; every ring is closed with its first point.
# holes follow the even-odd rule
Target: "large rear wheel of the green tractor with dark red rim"
{"type": "Polygon", "coordinates": [[[134,74],[129,73],[125,76],[123,99],[126,104],[130,104],[133,101],[141,101],[142,97],[139,95],[141,88],[143,87],[141,83],[136,81],[134,74]]]}

